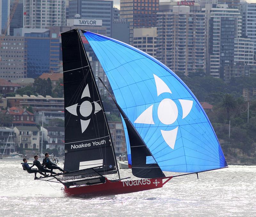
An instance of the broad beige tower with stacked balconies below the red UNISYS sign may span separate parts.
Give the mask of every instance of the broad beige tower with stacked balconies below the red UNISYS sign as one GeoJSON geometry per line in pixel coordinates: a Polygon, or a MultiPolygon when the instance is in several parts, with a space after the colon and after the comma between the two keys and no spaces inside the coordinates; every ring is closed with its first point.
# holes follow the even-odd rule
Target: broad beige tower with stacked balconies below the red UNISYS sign
{"type": "Polygon", "coordinates": [[[157,59],[188,75],[205,70],[205,15],[198,3],[160,3],[157,13],[157,59]]]}

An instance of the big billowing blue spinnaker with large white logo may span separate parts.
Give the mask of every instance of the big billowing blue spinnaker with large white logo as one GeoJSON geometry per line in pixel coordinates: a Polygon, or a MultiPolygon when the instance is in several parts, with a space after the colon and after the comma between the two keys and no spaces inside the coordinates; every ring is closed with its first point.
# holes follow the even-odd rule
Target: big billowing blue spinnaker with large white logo
{"type": "MultiPolygon", "coordinates": [[[[202,106],[172,70],[128,44],[91,32],[84,36],[107,74],[118,105],[163,171],[227,166],[202,106]]],[[[147,164],[154,158],[147,158],[147,164]]]]}

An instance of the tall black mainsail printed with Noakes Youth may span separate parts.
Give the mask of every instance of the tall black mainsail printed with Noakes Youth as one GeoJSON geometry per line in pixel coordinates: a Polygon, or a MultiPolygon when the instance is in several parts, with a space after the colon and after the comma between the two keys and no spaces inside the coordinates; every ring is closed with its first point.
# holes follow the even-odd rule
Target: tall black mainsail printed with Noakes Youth
{"type": "Polygon", "coordinates": [[[116,172],[116,158],[99,90],[78,30],[61,34],[65,105],[65,171],[99,167],[116,172]]]}

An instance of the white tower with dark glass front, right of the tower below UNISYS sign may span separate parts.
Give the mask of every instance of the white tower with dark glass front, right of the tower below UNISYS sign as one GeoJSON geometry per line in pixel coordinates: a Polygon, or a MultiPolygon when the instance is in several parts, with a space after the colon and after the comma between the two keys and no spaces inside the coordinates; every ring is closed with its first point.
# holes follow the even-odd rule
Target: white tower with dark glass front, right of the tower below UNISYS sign
{"type": "Polygon", "coordinates": [[[207,72],[223,78],[224,66],[234,65],[235,38],[242,34],[242,18],[238,9],[227,4],[205,8],[208,18],[207,72]]]}

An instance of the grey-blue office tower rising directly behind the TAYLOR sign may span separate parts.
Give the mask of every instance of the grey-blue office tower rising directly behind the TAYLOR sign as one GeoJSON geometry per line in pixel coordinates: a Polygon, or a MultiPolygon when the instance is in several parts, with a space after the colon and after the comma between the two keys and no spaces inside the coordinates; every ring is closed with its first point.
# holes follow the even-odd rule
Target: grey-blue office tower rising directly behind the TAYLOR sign
{"type": "Polygon", "coordinates": [[[113,1],[105,0],[70,0],[69,19],[75,19],[79,14],[80,19],[102,20],[102,26],[107,29],[107,36],[111,36],[113,20],[113,1]]]}

